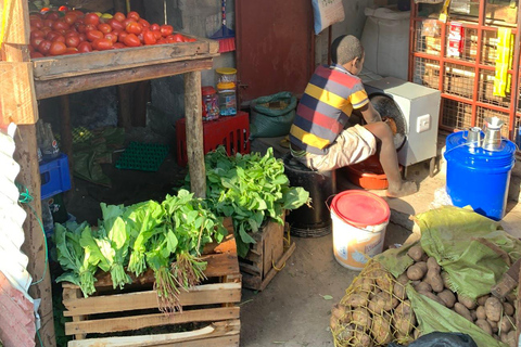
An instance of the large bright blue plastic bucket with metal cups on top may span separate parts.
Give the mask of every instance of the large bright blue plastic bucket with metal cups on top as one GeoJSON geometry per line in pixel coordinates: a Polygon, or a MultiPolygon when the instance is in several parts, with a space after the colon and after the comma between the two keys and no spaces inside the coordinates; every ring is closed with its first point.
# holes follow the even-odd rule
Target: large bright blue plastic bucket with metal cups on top
{"type": "Polygon", "coordinates": [[[516,144],[501,140],[498,151],[466,144],[467,130],[446,139],[446,190],[454,206],[470,205],[474,211],[494,220],[505,216],[510,174],[516,163],[516,144]]]}

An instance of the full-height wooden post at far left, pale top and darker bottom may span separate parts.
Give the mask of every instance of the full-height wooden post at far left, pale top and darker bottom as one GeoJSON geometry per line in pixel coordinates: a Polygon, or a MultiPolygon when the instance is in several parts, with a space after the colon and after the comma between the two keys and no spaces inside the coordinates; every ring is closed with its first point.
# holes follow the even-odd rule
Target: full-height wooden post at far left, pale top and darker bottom
{"type": "MultiPolygon", "coordinates": [[[[0,15],[3,16],[5,11],[5,36],[2,42],[1,56],[4,62],[13,64],[29,63],[29,9],[28,2],[25,0],[2,1],[0,5],[0,15]],[[7,3],[7,8],[3,4],[7,3]]],[[[51,275],[47,262],[47,254],[45,252],[46,236],[40,228],[38,219],[41,220],[41,203],[40,203],[40,174],[37,157],[36,142],[36,121],[38,120],[38,107],[36,103],[35,87],[33,73],[30,68],[25,69],[21,74],[13,75],[14,80],[10,83],[17,85],[17,88],[9,90],[9,93],[20,93],[14,100],[25,100],[22,105],[26,112],[26,118],[33,118],[24,121],[27,125],[18,126],[18,133],[15,137],[16,152],[14,158],[20,165],[21,171],[16,180],[24,184],[33,196],[33,208],[35,213],[23,205],[27,211],[27,218],[24,222],[25,243],[22,250],[28,256],[29,262],[27,271],[37,284],[29,287],[29,295],[33,298],[40,298],[41,304],[38,309],[40,314],[41,327],[39,335],[46,347],[55,347],[56,338],[54,336],[54,320],[52,312],[52,293],[51,293],[51,275]],[[30,95],[27,95],[30,93],[30,95]],[[31,117],[29,116],[31,115],[31,117]]],[[[10,111],[15,114],[15,110],[20,104],[2,104],[3,111],[10,111]]],[[[36,339],[36,336],[35,336],[36,339]]]]}

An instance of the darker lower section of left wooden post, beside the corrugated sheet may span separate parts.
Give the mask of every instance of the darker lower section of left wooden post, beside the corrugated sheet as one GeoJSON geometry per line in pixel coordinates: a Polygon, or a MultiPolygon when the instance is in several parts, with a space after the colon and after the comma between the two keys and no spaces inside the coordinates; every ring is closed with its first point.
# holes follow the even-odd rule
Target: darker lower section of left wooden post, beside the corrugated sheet
{"type": "Polygon", "coordinates": [[[16,181],[25,185],[34,198],[30,205],[21,204],[27,213],[27,218],[23,224],[25,242],[22,250],[29,255],[27,271],[33,277],[33,281],[39,281],[38,284],[29,287],[29,295],[34,298],[41,298],[38,313],[41,319],[39,334],[43,345],[56,346],[52,311],[51,275],[49,265],[46,261],[47,254],[43,247],[46,235],[41,231],[38,222],[38,219],[41,220],[41,201],[40,172],[36,154],[36,149],[38,147],[36,143],[36,126],[20,126],[14,140],[16,143],[16,152],[13,157],[20,165],[20,174],[16,177],[16,181]],[[31,207],[29,208],[29,206],[31,207]]]}

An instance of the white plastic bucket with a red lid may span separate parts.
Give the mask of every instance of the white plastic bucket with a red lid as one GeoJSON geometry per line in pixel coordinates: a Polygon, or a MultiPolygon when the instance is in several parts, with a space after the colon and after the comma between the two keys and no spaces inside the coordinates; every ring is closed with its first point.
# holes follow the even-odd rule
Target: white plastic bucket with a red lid
{"type": "Polygon", "coordinates": [[[333,254],[351,270],[361,270],[369,258],[382,253],[391,217],[387,203],[366,191],[343,191],[331,202],[333,254]]]}

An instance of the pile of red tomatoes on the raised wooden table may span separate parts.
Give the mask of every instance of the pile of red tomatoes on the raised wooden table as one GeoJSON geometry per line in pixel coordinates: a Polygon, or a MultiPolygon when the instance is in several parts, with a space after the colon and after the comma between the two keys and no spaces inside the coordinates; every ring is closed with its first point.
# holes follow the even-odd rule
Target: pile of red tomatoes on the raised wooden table
{"type": "Polygon", "coordinates": [[[79,10],[30,14],[30,57],[76,54],[147,44],[192,42],[171,25],[150,24],[136,11],[112,18],[79,10]]]}

